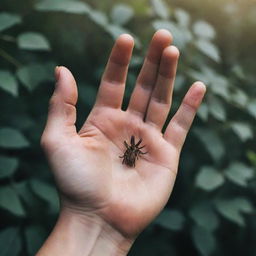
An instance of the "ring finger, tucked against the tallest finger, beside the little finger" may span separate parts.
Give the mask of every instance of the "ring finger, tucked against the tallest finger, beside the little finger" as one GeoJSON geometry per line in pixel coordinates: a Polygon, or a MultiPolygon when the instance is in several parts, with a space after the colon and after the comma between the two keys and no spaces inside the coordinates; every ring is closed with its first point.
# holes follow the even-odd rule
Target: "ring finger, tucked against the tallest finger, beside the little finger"
{"type": "Polygon", "coordinates": [[[147,109],[145,121],[160,130],[169,113],[178,58],[179,50],[175,46],[164,49],[156,85],[147,109]]]}

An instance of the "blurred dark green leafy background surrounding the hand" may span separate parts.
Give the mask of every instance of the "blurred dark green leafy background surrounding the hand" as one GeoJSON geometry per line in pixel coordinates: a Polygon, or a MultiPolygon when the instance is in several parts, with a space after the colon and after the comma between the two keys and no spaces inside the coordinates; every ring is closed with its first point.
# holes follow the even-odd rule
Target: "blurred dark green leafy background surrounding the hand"
{"type": "MultiPolygon", "coordinates": [[[[190,84],[208,92],[171,199],[129,255],[256,255],[255,0],[0,0],[0,255],[34,255],[58,199],[39,140],[65,65],[79,86],[79,128],[114,39],[136,39],[125,104],[152,34],[181,51],[170,117],[190,84]]],[[[125,106],[124,106],[125,107],[125,106]]]]}

